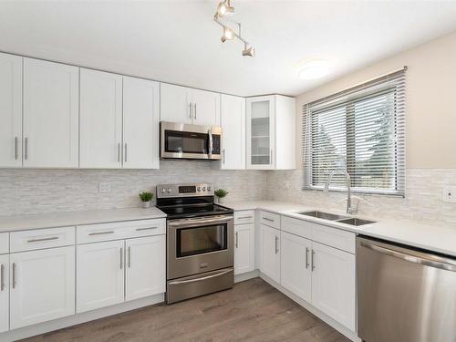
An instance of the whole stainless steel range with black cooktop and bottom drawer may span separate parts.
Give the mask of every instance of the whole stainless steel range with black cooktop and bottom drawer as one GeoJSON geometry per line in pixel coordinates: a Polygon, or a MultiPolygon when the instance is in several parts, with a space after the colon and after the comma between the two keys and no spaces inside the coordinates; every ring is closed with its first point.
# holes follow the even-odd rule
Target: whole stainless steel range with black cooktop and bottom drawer
{"type": "Polygon", "coordinates": [[[167,216],[168,304],[233,287],[233,210],[213,202],[212,184],[157,186],[167,216]]]}

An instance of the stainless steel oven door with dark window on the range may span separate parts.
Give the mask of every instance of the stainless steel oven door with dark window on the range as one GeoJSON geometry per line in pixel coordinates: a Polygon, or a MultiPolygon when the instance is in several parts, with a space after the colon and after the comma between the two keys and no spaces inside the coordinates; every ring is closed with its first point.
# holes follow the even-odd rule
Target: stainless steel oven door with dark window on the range
{"type": "Polygon", "coordinates": [[[168,221],[167,278],[233,267],[233,216],[168,221]]]}

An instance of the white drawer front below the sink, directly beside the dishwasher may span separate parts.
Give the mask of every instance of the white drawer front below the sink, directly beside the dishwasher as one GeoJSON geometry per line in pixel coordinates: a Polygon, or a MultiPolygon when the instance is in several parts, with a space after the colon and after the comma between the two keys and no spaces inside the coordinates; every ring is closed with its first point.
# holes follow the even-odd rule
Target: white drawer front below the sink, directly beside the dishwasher
{"type": "Polygon", "coordinates": [[[356,234],[343,231],[337,228],[326,227],[325,225],[314,224],[313,240],[320,244],[326,244],[331,247],[355,254],[356,234]]]}

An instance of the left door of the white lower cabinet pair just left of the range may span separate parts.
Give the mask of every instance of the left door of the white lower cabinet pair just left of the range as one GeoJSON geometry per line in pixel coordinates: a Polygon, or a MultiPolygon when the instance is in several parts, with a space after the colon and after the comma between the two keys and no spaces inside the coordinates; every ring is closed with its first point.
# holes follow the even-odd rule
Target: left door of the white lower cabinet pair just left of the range
{"type": "Polygon", "coordinates": [[[77,312],[124,301],[124,241],[77,247],[77,312]]]}

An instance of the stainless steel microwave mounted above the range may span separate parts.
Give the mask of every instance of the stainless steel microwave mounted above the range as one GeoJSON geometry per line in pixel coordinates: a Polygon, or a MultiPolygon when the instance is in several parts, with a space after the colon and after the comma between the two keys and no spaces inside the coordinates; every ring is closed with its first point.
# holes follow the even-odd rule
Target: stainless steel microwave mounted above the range
{"type": "Polygon", "coordinates": [[[222,159],[222,128],[184,123],[160,123],[161,159],[222,159]]]}

